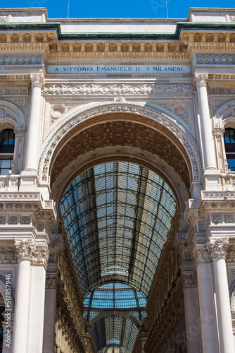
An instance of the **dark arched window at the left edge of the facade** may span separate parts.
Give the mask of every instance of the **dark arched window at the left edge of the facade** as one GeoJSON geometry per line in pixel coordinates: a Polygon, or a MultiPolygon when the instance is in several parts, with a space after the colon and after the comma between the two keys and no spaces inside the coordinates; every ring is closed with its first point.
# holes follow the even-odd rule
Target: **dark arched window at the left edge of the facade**
{"type": "Polygon", "coordinates": [[[0,133],[0,175],[8,175],[11,170],[15,148],[15,133],[6,128],[0,133]]]}

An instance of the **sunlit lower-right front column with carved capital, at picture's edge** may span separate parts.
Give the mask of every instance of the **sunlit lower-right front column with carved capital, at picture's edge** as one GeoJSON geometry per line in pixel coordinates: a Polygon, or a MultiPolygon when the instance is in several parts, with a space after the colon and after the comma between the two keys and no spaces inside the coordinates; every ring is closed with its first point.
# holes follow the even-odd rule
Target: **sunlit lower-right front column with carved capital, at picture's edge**
{"type": "Polygon", "coordinates": [[[220,352],[234,353],[234,337],[231,327],[231,311],[229,303],[229,286],[225,262],[228,244],[229,241],[227,238],[210,239],[208,249],[210,250],[214,267],[220,352]]]}

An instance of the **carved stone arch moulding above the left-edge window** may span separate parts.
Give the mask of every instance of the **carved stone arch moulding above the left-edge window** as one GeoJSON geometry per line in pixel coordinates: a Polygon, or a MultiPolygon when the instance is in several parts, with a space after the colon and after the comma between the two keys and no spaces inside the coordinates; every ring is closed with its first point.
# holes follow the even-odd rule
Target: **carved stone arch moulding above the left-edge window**
{"type": "Polygon", "coordinates": [[[0,123],[10,124],[15,129],[25,128],[25,114],[15,103],[0,99],[0,123]]]}

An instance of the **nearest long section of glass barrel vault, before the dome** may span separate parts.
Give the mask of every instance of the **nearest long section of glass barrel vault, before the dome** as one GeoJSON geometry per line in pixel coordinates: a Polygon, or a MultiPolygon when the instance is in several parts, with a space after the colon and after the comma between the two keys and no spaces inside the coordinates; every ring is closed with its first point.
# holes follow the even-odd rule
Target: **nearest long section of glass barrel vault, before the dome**
{"type": "Polygon", "coordinates": [[[137,164],[99,164],[72,181],[61,215],[82,296],[122,282],[148,297],[175,209],[165,181],[137,164]]]}

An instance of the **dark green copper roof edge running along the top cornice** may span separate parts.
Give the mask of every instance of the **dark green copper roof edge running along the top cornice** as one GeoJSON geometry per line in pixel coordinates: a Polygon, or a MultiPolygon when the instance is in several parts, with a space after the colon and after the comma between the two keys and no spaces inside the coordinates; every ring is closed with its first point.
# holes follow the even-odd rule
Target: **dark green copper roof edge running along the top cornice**
{"type": "Polygon", "coordinates": [[[182,30],[235,30],[235,23],[177,22],[172,33],[62,33],[61,23],[0,23],[0,30],[56,30],[58,40],[179,40],[182,30]]]}

